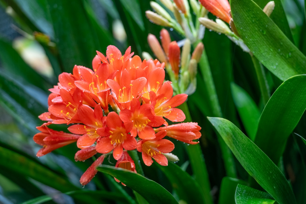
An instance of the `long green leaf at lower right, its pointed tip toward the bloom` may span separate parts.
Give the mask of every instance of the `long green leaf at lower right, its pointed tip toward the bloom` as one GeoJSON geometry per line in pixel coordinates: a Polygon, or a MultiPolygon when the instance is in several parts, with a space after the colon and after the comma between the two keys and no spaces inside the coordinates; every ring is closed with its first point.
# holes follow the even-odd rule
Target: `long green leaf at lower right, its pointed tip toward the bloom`
{"type": "Polygon", "coordinates": [[[207,117],[232,150],[244,169],[255,178],[279,204],[296,204],[293,191],[278,167],[233,123],[207,117]]]}

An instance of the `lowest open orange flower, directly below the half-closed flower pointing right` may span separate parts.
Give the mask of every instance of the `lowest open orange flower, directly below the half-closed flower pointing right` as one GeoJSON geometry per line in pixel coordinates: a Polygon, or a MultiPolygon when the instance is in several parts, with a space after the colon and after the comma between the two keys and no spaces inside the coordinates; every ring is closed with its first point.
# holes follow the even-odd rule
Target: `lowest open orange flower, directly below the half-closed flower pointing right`
{"type": "Polygon", "coordinates": [[[174,144],[167,139],[162,139],[165,136],[166,131],[160,131],[156,133],[155,139],[143,139],[137,143],[137,150],[142,152],[145,165],[151,166],[152,158],[162,166],[168,165],[168,160],[162,153],[169,153],[174,150],[174,144]]]}

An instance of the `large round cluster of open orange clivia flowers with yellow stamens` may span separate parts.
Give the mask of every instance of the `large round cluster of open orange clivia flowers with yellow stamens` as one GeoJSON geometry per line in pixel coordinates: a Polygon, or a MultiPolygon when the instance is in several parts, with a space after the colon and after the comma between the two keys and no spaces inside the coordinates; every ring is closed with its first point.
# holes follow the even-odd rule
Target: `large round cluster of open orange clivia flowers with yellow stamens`
{"type": "Polygon", "coordinates": [[[185,114],[176,108],[187,99],[186,94],[173,96],[170,81],[165,80],[165,63],[158,60],[141,61],[132,57],[129,47],[125,54],[115,46],[108,46],[106,56],[97,51],[92,68],[75,65],[73,73],[59,75],[59,83],[48,98],[48,112],[39,118],[47,121],[37,127],[40,133],[34,141],[43,146],[37,156],[76,142],[80,150],[76,161],[84,161],[102,154],[80,179],[82,185],[97,173],[107,154],[113,154],[116,167],[136,172],[134,161],[126,150],[142,152],[147,166],[153,162],[168,165],[165,153],[174,144],[164,139],[172,137],[189,144],[201,136],[197,123],[168,125],[182,122],[185,114]],[[73,124],[69,132],[55,131],[50,124],[73,124]]]}

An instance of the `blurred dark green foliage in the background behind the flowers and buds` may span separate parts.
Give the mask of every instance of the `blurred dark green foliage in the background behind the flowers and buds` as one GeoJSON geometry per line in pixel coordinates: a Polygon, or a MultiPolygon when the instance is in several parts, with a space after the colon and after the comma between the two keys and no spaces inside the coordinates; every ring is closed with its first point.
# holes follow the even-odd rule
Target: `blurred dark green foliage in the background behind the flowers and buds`
{"type": "MultiPolygon", "coordinates": [[[[145,51],[154,56],[147,35],[159,36],[162,27],[145,17],[145,11],[151,10],[150,2],[0,0],[0,4],[0,203],[21,203],[43,195],[51,196],[45,197],[46,203],[145,203],[135,191],[100,172],[82,188],[80,176],[92,161],[74,161],[76,144],[37,158],[35,155],[40,147],[32,137],[38,132],[35,127],[43,123],[37,116],[47,110],[48,89],[56,85],[60,73],[72,72],[74,65],[91,68],[95,51],[105,54],[110,44],[121,52],[132,46],[135,55],[141,56],[145,51]]],[[[304,1],[283,0],[282,4],[294,44],[306,54],[304,1]]],[[[211,14],[209,17],[215,18],[211,14]]],[[[182,40],[173,29],[169,32],[172,40],[182,40]]],[[[223,117],[252,137],[252,127],[245,124],[243,118],[251,115],[257,123],[264,105],[250,55],[225,35],[208,30],[203,43],[223,117]],[[243,103],[251,105],[241,110],[243,103]],[[249,114],[244,115],[245,112],[249,114]]],[[[282,82],[269,70],[265,69],[265,72],[272,94],[282,82]]],[[[202,127],[200,145],[211,195],[214,203],[234,203],[233,192],[238,183],[248,182],[248,173],[235,158],[240,180],[225,177],[218,139],[206,119],[211,115],[211,109],[206,102],[207,93],[201,88],[203,79],[200,74],[197,90],[188,98],[188,106],[192,120],[202,127]]],[[[303,115],[296,132],[305,134],[305,125],[303,115]]],[[[65,125],[51,126],[67,131],[65,125]]],[[[172,141],[175,144],[173,153],[180,158],[177,165],[192,175],[185,145],[172,141]]],[[[298,203],[306,202],[305,158],[306,146],[297,135],[291,134],[282,159],[282,172],[290,179],[298,203]]],[[[103,164],[114,163],[114,159],[106,159],[103,164]]],[[[181,189],[173,185],[163,168],[142,166],[147,178],[162,185],[178,199],[181,189]]]]}

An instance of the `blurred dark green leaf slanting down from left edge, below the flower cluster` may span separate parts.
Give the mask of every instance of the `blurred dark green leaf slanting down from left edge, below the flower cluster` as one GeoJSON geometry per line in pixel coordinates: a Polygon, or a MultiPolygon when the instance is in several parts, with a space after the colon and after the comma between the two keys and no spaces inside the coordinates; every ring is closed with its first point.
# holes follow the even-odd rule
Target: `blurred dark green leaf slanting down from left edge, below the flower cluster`
{"type": "Polygon", "coordinates": [[[0,147],[0,157],[0,165],[10,169],[12,173],[30,177],[62,192],[78,189],[46,167],[16,152],[0,147]]]}

